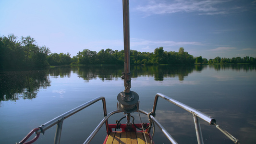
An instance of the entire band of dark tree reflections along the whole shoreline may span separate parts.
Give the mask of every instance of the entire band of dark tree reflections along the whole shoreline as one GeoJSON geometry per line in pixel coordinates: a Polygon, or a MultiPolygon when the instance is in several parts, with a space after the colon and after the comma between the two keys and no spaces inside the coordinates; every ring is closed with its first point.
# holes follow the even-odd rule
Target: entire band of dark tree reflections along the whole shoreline
{"type": "MultiPolygon", "coordinates": [[[[217,64],[209,65],[209,68],[216,71],[232,69],[248,72],[255,70],[256,65],[217,64]]],[[[179,81],[183,81],[189,73],[194,70],[200,72],[203,69],[204,65],[131,66],[132,78],[154,76],[155,81],[163,81],[165,77],[178,77],[179,81]]],[[[71,72],[77,73],[78,77],[83,78],[85,82],[97,78],[104,82],[121,78],[123,67],[114,65],[62,66],[48,70],[0,72],[0,101],[36,98],[40,88],[50,86],[49,76],[53,78],[70,77],[71,72]]]]}

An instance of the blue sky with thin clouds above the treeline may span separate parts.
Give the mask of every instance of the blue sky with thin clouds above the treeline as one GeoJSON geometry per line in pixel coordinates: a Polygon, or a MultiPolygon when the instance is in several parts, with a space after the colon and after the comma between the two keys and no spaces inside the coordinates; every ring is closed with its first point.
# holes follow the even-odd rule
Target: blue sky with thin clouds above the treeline
{"type": "MultiPolygon", "coordinates": [[[[122,0],[0,0],[0,36],[52,53],[123,49],[122,0]]],[[[256,0],[130,0],[130,49],[256,57],[256,0]]]]}

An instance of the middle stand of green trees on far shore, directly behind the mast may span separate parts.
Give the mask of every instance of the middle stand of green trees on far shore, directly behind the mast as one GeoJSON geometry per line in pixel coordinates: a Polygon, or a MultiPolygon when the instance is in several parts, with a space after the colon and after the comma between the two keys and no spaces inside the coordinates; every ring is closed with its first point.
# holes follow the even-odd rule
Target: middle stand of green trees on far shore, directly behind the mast
{"type": "MultiPolygon", "coordinates": [[[[51,55],[49,55],[51,57],[51,55]]],[[[153,64],[193,64],[194,57],[180,48],[179,52],[164,51],[163,47],[156,48],[154,52],[139,52],[130,50],[132,65],[153,64]]],[[[59,59],[61,60],[61,58],[59,59]]],[[[78,52],[71,59],[71,64],[123,64],[124,50],[101,49],[98,53],[89,49],[78,52]]],[[[50,63],[50,62],[49,62],[50,63]]]]}

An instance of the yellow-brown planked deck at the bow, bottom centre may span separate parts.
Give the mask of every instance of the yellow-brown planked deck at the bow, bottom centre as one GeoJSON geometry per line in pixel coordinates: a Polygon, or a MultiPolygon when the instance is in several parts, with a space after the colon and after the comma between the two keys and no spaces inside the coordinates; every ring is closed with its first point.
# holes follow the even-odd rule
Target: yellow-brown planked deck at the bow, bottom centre
{"type": "Polygon", "coordinates": [[[146,140],[143,132],[110,132],[106,144],[151,144],[147,132],[145,134],[146,140]]]}

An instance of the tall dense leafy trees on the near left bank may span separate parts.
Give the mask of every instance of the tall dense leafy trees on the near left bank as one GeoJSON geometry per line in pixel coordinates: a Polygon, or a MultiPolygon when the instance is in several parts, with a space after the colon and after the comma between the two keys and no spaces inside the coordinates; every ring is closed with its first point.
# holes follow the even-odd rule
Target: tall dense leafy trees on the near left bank
{"type": "Polygon", "coordinates": [[[22,36],[21,41],[13,34],[0,37],[0,69],[46,67],[49,53],[49,48],[37,46],[30,36],[22,36]]]}

